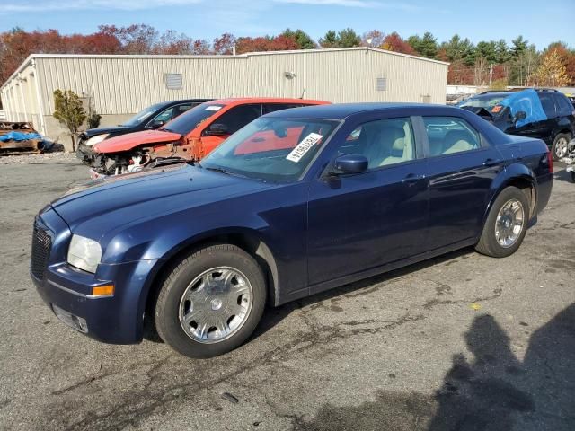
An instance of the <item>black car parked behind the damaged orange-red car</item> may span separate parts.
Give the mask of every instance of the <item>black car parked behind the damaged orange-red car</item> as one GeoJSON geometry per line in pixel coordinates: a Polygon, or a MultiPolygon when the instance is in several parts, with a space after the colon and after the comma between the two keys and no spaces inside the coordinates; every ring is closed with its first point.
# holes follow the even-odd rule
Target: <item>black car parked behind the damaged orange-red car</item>
{"type": "Polygon", "coordinates": [[[154,130],[175,119],[185,111],[210,99],[184,99],[181,101],[163,101],[148,106],[134,117],[119,126],[110,128],[89,128],[80,134],[76,155],[83,163],[93,163],[93,145],[111,137],[126,135],[142,130],[154,130]]]}

